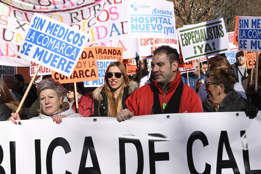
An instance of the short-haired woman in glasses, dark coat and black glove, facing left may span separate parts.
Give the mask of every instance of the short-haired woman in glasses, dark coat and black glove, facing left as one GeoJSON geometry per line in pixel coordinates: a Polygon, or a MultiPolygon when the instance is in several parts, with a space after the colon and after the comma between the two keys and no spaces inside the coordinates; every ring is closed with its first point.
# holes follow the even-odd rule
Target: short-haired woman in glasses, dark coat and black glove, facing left
{"type": "Polygon", "coordinates": [[[216,68],[207,73],[206,77],[204,112],[245,111],[250,119],[257,115],[258,108],[234,90],[235,75],[232,70],[216,68]]]}

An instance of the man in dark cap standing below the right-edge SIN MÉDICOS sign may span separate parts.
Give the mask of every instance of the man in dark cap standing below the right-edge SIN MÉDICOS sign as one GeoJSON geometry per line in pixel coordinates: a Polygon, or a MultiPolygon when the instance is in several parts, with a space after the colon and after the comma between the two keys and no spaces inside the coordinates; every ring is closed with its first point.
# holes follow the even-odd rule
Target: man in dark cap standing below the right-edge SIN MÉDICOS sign
{"type": "Polygon", "coordinates": [[[241,84],[246,78],[246,59],[243,51],[237,52],[236,61],[236,63],[231,65],[231,69],[236,76],[236,82],[241,84]]]}

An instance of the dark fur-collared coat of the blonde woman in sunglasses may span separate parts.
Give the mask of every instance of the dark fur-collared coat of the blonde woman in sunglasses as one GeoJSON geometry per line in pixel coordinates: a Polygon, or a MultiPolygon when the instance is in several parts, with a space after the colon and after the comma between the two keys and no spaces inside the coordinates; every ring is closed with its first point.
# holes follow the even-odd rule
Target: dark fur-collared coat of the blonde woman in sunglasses
{"type": "MultiPolygon", "coordinates": [[[[133,93],[138,88],[138,84],[136,81],[130,81],[128,86],[124,88],[123,96],[122,96],[122,108],[126,108],[126,99],[133,93]]],[[[96,88],[93,91],[93,99],[94,99],[94,116],[97,117],[100,116],[102,117],[107,117],[107,110],[108,110],[108,98],[107,95],[105,94],[104,87],[99,87],[96,88]],[[100,96],[100,97],[98,97],[100,96]],[[98,106],[99,106],[99,101],[100,99],[100,109],[98,111],[98,106]]]]}

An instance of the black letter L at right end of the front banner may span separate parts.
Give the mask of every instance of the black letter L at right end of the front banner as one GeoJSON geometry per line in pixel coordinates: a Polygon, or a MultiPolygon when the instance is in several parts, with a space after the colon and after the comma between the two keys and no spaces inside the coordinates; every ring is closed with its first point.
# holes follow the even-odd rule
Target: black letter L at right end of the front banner
{"type": "Polygon", "coordinates": [[[247,135],[246,131],[240,131],[242,151],[243,151],[243,160],[246,174],[258,174],[261,173],[261,170],[251,170],[249,163],[249,152],[247,146],[247,135]]]}

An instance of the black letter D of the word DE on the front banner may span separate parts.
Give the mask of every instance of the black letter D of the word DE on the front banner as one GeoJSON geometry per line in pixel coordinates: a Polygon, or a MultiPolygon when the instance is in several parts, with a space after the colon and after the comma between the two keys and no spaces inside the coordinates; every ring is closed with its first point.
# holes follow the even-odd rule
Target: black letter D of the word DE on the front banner
{"type": "Polygon", "coordinates": [[[119,160],[120,160],[120,174],[126,174],[126,160],[125,160],[125,143],[132,143],[137,150],[138,167],[137,173],[143,173],[144,160],[143,150],[139,138],[135,135],[119,135],[119,160]]]}

